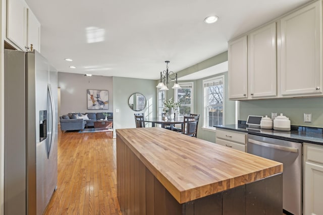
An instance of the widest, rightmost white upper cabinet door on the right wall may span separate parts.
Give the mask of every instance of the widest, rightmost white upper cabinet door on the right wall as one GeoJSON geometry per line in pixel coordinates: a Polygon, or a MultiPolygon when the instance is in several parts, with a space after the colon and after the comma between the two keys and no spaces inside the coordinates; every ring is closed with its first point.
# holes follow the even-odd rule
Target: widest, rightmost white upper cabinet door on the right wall
{"type": "Polygon", "coordinates": [[[322,93],[321,1],[281,19],[281,94],[322,93]]]}

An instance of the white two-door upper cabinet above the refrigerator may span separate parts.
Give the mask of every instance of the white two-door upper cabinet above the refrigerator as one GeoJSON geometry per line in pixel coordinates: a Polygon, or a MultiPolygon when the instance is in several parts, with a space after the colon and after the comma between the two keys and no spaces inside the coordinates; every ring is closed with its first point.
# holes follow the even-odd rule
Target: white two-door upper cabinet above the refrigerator
{"type": "Polygon", "coordinates": [[[23,51],[40,52],[40,23],[23,0],[7,1],[7,38],[23,51]]]}

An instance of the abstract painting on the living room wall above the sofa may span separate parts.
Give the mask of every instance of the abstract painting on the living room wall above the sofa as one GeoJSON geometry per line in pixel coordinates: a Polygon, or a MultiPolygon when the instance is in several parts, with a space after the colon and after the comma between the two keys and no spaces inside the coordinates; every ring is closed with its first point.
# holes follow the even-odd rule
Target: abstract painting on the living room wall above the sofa
{"type": "Polygon", "coordinates": [[[87,90],[87,109],[109,109],[109,96],[107,90],[87,90]]]}

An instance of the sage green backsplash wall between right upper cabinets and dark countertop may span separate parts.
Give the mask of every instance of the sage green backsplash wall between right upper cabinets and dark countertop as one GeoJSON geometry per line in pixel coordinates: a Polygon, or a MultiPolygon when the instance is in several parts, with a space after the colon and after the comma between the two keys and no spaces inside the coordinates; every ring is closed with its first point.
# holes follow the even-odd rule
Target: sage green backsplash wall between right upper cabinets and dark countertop
{"type": "Polygon", "coordinates": [[[239,119],[246,120],[248,115],[268,115],[283,113],[292,125],[323,127],[323,98],[292,98],[240,101],[239,119]],[[304,113],[312,114],[312,122],[304,122],[304,113]]]}

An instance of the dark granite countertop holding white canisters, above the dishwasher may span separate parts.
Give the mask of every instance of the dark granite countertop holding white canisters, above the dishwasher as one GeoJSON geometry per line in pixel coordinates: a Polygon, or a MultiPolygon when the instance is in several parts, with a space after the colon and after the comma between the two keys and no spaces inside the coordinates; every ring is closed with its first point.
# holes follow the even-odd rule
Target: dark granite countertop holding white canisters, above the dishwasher
{"type": "Polygon", "coordinates": [[[246,124],[229,124],[214,127],[294,142],[309,142],[311,144],[323,145],[323,128],[292,125],[291,131],[277,131],[273,129],[249,128],[246,124]]]}

